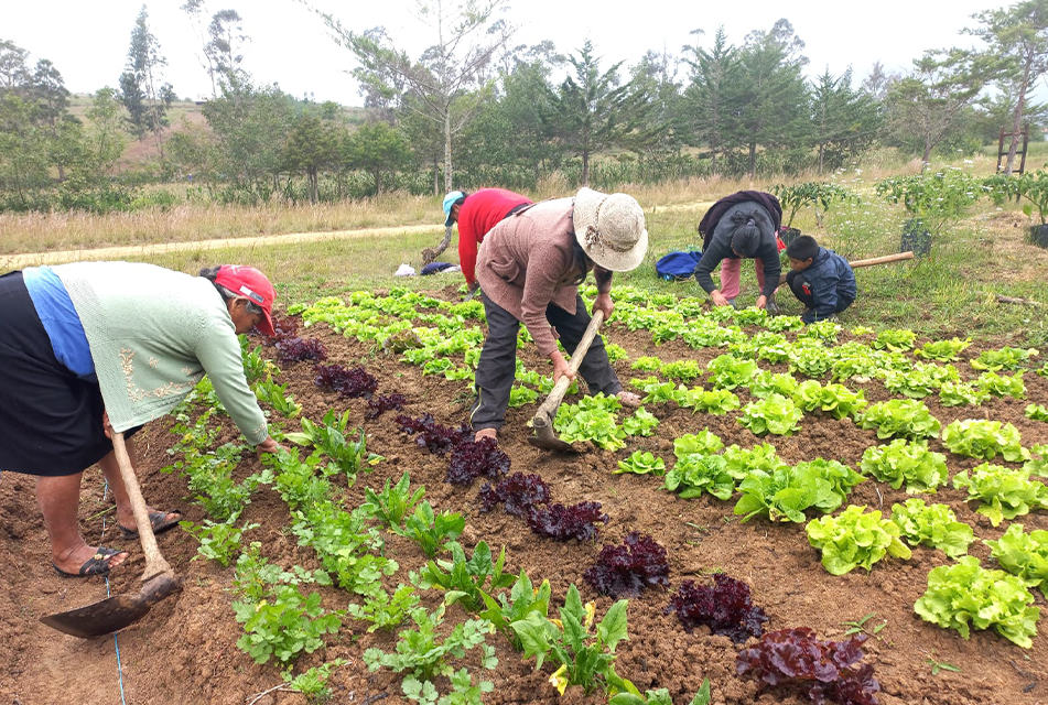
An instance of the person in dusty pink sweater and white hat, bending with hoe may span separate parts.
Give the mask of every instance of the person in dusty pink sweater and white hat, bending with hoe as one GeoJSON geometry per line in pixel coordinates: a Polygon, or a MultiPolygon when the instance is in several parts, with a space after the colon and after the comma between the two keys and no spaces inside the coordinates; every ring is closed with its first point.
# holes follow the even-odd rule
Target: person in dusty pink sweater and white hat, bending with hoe
{"type": "MultiPolygon", "coordinates": [[[[468,202],[467,202],[468,203],[468,202]]],[[[476,372],[469,421],[477,438],[497,438],[505,423],[517,360],[517,330],[527,326],[541,355],[553,364],[553,380],[569,375],[557,347],[574,350],[590,325],[579,295],[590,270],[597,284],[594,310],[612,315],[612,273],[628,272],[644,260],[648,231],[644,210],[626,194],[582,188],[574,198],[544,200],[498,223],[480,245],[476,275],[484,292],[488,335],[476,372]]],[[[623,391],[604,340],[596,336],[579,367],[591,393],[623,391]]]]}

